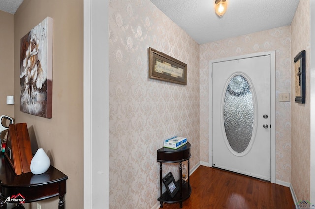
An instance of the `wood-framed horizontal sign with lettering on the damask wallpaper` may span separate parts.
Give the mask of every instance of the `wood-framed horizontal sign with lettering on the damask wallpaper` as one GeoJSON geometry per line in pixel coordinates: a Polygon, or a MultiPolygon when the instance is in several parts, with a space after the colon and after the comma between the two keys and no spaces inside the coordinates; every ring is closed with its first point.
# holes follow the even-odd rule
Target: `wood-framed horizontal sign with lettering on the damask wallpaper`
{"type": "Polygon", "coordinates": [[[187,85],[186,64],[149,48],[149,78],[187,85]]]}

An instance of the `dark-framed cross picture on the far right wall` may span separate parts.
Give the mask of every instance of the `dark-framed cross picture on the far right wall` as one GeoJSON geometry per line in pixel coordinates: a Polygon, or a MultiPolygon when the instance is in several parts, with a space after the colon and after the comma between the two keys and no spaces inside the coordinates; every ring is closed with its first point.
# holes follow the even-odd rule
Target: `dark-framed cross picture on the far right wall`
{"type": "Polygon", "coordinates": [[[305,50],[294,57],[295,102],[305,103],[305,50]]]}

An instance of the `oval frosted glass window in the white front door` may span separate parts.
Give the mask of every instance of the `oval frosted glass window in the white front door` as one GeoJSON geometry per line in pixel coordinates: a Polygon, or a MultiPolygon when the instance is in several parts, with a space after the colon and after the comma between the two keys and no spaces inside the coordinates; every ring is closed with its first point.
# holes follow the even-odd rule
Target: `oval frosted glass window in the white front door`
{"type": "Polygon", "coordinates": [[[254,105],[250,84],[242,75],[232,77],[227,85],[223,119],[229,145],[237,153],[244,152],[252,138],[254,105]]]}

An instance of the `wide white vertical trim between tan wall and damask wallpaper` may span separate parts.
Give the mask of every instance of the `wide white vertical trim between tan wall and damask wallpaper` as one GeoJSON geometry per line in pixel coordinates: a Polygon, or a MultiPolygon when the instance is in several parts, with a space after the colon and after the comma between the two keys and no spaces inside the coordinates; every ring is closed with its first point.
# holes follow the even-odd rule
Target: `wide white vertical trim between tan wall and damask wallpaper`
{"type": "Polygon", "coordinates": [[[84,209],[109,208],[108,0],[84,0],[84,209]],[[93,40],[93,41],[92,41],[93,40]]]}

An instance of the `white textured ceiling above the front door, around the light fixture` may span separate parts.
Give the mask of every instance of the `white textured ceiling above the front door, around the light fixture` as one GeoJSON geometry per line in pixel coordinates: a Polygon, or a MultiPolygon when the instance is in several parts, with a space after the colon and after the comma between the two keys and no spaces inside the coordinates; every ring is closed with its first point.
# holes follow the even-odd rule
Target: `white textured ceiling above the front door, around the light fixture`
{"type": "Polygon", "coordinates": [[[291,25],[299,0],[227,0],[223,17],[215,0],[150,0],[199,44],[291,25]]]}

